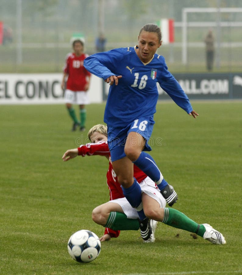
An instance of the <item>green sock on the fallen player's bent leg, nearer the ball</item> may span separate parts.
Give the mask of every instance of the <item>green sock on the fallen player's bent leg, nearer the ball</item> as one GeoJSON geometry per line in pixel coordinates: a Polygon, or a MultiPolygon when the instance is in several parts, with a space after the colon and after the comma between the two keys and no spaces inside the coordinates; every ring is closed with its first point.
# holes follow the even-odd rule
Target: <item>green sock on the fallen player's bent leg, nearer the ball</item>
{"type": "Polygon", "coordinates": [[[138,230],[140,224],[138,219],[128,219],[124,213],[110,212],[105,227],[113,230],[138,230]]]}

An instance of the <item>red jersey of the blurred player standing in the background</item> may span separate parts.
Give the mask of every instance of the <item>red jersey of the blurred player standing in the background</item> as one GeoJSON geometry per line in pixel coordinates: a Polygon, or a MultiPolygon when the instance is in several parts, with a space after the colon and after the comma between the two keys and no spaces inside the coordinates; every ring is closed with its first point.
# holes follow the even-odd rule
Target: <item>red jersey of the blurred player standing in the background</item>
{"type": "Polygon", "coordinates": [[[87,84],[87,76],[91,73],[83,66],[84,59],[88,57],[83,53],[80,56],[76,56],[75,53],[69,53],[66,56],[64,73],[68,74],[66,83],[66,89],[71,91],[84,91],[84,87],[87,84]]]}

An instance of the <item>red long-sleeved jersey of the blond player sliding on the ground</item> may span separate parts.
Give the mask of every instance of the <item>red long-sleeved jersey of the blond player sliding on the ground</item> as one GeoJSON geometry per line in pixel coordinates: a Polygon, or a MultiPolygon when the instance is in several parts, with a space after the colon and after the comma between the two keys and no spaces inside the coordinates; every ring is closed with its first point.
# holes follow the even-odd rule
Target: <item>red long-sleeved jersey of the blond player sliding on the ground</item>
{"type": "MultiPolygon", "coordinates": [[[[107,185],[109,187],[109,196],[110,200],[115,200],[119,198],[123,198],[123,190],[121,188],[120,183],[118,182],[117,176],[113,170],[111,156],[109,152],[108,143],[105,141],[98,143],[87,143],[86,145],[81,145],[78,148],[79,156],[92,156],[92,155],[100,155],[100,156],[108,156],[109,157],[109,170],[107,172],[107,185]]],[[[136,165],[133,166],[133,176],[136,178],[137,182],[142,182],[147,175],[144,174],[136,165]]],[[[116,238],[119,236],[119,230],[112,230],[110,228],[105,228],[105,234],[109,234],[112,238],[116,238]]]]}

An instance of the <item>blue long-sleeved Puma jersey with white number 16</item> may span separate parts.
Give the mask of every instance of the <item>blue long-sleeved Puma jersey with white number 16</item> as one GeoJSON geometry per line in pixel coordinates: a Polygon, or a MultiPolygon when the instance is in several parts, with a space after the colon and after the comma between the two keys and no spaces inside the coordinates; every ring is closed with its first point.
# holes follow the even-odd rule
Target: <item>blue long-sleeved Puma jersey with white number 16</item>
{"type": "Polygon", "coordinates": [[[110,86],[104,122],[112,127],[125,127],[139,117],[153,116],[158,100],[157,82],[177,105],[190,113],[193,110],[190,101],[168,71],[164,57],[155,54],[145,64],[137,56],[136,48],[95,53],[84,60],[84,67],[104,80],[122,75],[118,85],[110,86]]]}

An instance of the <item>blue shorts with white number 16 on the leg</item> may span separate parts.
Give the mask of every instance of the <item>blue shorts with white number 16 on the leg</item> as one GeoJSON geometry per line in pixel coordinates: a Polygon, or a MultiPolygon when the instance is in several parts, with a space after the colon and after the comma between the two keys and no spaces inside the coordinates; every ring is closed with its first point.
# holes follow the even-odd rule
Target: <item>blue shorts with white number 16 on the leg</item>
{"type": "Polygon", "coordinates": [[[148,144],[148,141],[151,137],[154,124],[153,116],[150,116],[135,119],[125,128],[116,128],[108,125],[108,145],[111,160],[120,160],[126,156],[124,153],[124,146],[130,132],[141,134],[141,136],[146,140],[144,151],[151,151],[152,149],[148,144]]]}

